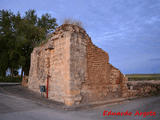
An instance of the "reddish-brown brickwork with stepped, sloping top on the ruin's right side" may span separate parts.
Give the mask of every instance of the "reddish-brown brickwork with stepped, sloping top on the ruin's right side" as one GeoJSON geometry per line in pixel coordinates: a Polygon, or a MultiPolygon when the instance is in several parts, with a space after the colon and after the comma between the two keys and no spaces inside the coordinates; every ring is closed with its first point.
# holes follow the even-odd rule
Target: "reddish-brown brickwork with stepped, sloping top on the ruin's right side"
{"type": "Polygon", "coordinates": [[[87,79],[82,87],[82,102],[122,97],[125,86],[123,77],[121,72],[109,63],[109,56],[105,51],[92,42],[87,44],[87,79]]]}

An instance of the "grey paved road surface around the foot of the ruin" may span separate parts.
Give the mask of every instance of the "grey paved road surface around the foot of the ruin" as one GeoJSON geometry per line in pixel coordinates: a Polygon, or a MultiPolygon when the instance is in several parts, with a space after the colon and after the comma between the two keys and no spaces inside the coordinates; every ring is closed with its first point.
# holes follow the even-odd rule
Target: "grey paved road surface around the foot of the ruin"
{"type": "Polygon", "coordinates": [[[64,104],[47,100],[21,86],[0,87],[0,120],[159,120],[160,96],[84,109],[64,109],[64,104]],[[104,116],[105,111],[156,113],[155,116],[104,116]]]}

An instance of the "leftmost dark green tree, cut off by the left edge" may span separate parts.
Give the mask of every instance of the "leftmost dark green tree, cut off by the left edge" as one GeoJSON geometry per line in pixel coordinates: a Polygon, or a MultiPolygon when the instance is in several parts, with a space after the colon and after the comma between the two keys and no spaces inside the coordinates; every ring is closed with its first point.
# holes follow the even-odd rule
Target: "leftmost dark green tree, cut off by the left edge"
{"type": "Polygon", "coordinates": [[[12,13],[10,11],[0,11],[0,73],[5,76],[6,70],[11,67],[9,64],[9,44],[11,43],[12,32],[12,13]]]}

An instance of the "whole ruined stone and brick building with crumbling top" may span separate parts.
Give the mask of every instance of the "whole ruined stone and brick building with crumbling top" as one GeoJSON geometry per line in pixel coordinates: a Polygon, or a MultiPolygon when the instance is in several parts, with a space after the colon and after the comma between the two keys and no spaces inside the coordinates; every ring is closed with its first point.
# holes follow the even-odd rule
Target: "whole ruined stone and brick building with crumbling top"
{"type": "Polygon", "coordinates": [[[47,86],[49,99],[68,106],[127,96],[127,78],[109,63],[84,29],[64,24],[44,45],[34,48],[28,88],[47,86]]]}

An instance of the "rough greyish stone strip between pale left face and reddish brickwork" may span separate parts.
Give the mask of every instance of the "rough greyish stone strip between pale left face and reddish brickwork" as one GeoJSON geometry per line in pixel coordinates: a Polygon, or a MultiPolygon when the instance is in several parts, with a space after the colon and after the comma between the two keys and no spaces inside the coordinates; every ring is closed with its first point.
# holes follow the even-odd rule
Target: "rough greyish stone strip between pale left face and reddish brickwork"
{"type": "MultiPolygon", "coordinates": [[[[76,29],[76,28],[75,28],[76,29]]],[[[70,45],[70,92],[73,104],[79,104],[82,100],[81,87],[85,82],[87,74],[87,39],[88,36],[84,30],[77,28],[71,34],[70,45]]]]}

